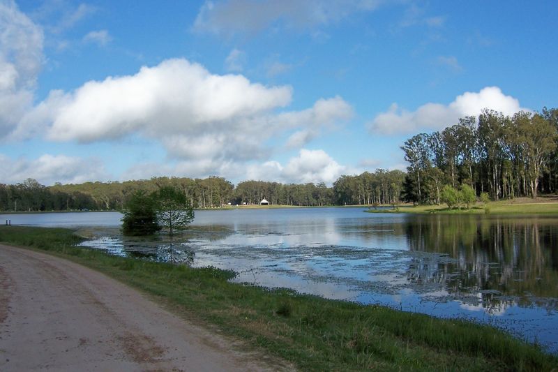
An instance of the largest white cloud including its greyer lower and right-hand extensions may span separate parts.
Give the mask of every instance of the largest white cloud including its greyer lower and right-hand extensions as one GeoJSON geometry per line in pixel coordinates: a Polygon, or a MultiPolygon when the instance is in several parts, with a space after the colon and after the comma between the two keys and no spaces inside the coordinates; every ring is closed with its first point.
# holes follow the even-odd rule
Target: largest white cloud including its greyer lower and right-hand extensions
{"type": "Polygon", "coordinates": [[[240,172],[251,161],[269,159],[282,135],[291,136],[289,147],[301,148],[353,116],[339,96],[320,98],[306,110],[280,111],[291,99],[288,86],[264,86],[169,59],[135,75],[51,91],[16,133],[82,143],[142,136],[162,144],[169,160],[188,174],[202,177],[227,172],[221,165],[240,172]]]}

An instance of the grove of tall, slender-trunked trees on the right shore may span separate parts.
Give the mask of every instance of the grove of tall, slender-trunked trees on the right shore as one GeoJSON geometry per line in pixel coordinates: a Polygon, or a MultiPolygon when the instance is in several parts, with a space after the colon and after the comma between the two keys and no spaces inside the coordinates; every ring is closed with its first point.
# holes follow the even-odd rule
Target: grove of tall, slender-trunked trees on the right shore
{"type": "Polygon", "coordinates": [[[421,133],[401,149],[409,163],[405,200],[439,204],[444,186],[472,187],[492,200],[556,193],[558,110],[507,116],[483,110],[443,131],[421,133]]]}

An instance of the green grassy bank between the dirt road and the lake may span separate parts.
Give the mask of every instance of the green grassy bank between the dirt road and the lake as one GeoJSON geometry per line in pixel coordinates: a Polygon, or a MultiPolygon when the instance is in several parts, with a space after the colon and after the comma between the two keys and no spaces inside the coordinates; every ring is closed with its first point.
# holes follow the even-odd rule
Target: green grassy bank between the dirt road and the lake
{"type": "Polygon", "coordinates": [[[70,230],[0,226],[0,241],[68,258],[309,371],[551,371],[557,357],[490,327],[229,283],[234,273],[77,248],[70,230]]]}

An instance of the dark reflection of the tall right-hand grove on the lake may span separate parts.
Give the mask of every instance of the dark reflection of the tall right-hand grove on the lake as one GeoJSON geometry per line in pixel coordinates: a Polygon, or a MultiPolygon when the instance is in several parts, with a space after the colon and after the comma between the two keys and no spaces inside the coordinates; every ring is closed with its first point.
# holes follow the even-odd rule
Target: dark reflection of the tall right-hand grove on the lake
{"type": "Polygon", "coordinates": [[[418,216],[405,232],[412,251],[441,254],[434,261],[414,258],[409,281],[439,283],[495,310],[506,302],[556,308],[558,218],[418,216]]]}

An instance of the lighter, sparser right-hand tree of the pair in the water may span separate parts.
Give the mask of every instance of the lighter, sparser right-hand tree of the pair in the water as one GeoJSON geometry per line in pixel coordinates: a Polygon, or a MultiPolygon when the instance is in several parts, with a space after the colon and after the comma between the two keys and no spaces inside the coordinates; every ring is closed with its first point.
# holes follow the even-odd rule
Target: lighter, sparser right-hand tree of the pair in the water
{"type": "Polygon", "coordinates": [[[174,235],[176,230],[183,230],[194,220],[194,210],[186,195],[172,186],[163,186],[151,194],[155,200],[158,224],[174,235]]]}

